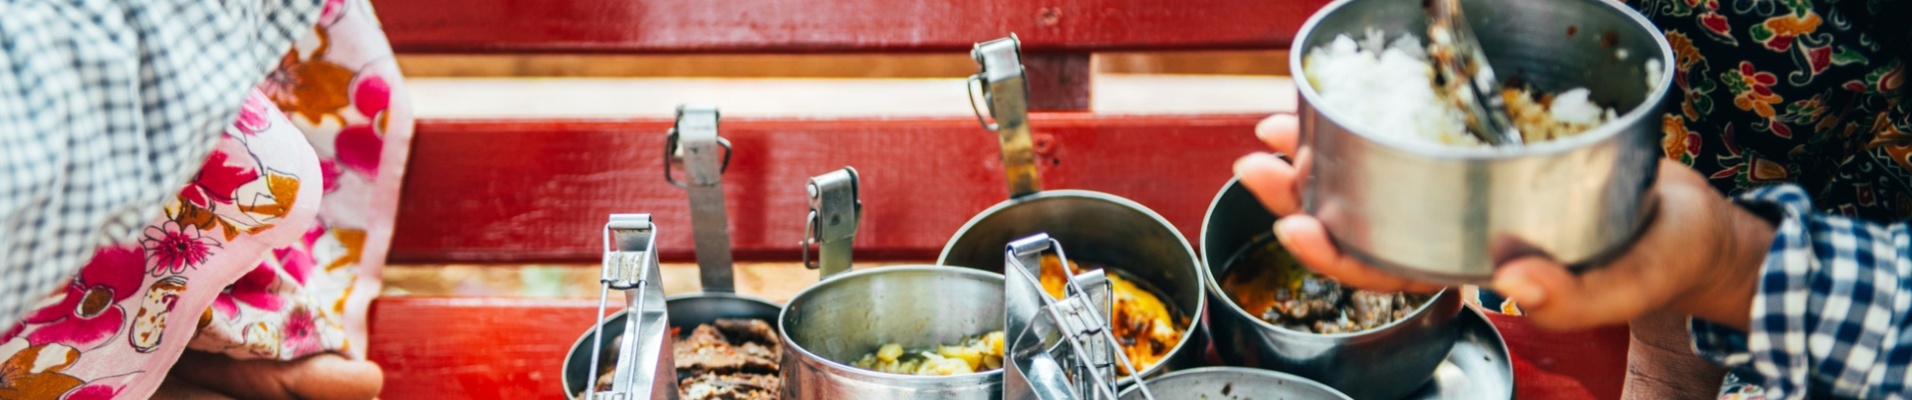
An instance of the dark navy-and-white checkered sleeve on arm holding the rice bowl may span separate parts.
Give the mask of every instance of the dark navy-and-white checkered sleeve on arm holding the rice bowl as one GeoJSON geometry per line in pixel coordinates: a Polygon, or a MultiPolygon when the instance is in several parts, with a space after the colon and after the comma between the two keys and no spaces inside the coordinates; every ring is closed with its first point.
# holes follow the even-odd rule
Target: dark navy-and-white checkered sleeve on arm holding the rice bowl
{"type": "Polygon", "coordinates": [[[1751,327],[1690,322],[1700,356],[1751,364],[1767,398],[1908,398],[1912,383],[1912,228],[1813,211],[1797,186],[1738,197],[1776,207],[1751,327]]]}

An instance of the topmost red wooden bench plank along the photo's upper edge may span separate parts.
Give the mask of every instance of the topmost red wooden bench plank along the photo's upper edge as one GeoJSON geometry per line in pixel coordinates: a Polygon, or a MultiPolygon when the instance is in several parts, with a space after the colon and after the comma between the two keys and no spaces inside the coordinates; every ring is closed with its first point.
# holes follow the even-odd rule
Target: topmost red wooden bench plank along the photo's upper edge
{"type": "Polygon", "coordinates": [[[1273,50],[1327,0],[373,0],[400,54],[1273,50]]]}

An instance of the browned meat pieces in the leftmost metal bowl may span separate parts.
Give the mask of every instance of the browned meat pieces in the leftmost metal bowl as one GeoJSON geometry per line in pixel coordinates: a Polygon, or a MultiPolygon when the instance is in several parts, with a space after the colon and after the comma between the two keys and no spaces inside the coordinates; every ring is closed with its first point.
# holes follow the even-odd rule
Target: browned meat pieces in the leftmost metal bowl
{"type": "MultiPolygon", "coordinates": [[[[671,327],[671,335],[679,337],[671,346],[671,356],[677,360],[677,379],[681,379],[677,394],[684,400],[771,400],[782,390],[778,362],[782,362],[784,344],[771,323],[763,320],[717,320],[690,329],[688,337],[679,333],[679,327],[671,327]]],[[[619,335],[618,341],[604,346],[598,358],[602,360],[598,390],[610,390],[621,339],[619,335]]]]}

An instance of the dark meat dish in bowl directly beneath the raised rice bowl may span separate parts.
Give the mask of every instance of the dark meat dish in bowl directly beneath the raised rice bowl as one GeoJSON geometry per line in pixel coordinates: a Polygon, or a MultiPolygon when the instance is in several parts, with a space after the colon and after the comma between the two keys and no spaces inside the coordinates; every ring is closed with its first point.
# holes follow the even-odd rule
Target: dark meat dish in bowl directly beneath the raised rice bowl
{"type": "Polygon", "coordinates": [[[1222,291],[1262,322],[1306,333],[1356,333],[1405,320],[1432,295],[1344,287],[1294,262],[1273,235],[1228,260],[1222,291]]]}

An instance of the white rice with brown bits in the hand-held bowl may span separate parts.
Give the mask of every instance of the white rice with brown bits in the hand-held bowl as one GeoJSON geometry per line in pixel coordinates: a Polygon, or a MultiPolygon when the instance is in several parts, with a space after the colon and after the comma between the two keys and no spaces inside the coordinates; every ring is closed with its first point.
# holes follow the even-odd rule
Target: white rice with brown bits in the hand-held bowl
{"type": "MultiPolygon", "coordinates": [[[[1348,115],[1346,121],[1361,124],[1363,132],[1482,145],[1467,132],[1467,115],[1453,107],[1453,94],[1436,82],[1428,52],[1413,34],[1392,42],[1380,31],[1369,31],[1359,42],[1336,34],[1327,46],[1310,50],[1302,69],[1321,94],[1321,107],[1348,115]]],[[[1612,121],[1614,109],[1593,103],[1589,96],[1587,88],[1543,94],[1516,80],[1501,92],[1528,144],[1574,136],[1612,121]]]]}

